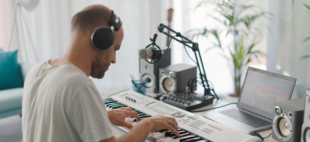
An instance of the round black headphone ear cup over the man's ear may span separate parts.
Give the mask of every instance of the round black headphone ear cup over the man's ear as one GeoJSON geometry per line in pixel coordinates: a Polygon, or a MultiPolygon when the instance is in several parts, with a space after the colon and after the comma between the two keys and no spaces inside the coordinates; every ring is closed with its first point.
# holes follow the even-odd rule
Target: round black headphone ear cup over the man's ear
{"type": "Polygon", "coordinates": [[[100,50],[108,50],[114,44],[115,35],[108,27],[100,27],[95,29],[91,35],[91,42],[93,46],[100,50]]]}

